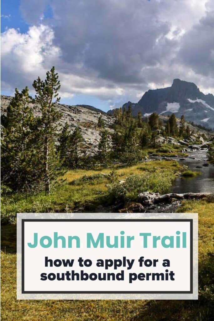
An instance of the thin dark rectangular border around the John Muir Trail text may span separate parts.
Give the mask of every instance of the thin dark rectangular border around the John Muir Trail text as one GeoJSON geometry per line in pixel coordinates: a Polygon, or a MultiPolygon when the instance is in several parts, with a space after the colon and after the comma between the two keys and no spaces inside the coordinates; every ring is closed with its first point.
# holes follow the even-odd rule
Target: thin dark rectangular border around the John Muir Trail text
{"type": "Polygon", "coordinates": [[[106,293],[106,294],[193,294],[193,219],[21,219],[21,293],[22,294],[93,294],[93,293],[106,293]],[[190,291],[24,291],[24,223],[25,222],[190,222],[190,291]]]}

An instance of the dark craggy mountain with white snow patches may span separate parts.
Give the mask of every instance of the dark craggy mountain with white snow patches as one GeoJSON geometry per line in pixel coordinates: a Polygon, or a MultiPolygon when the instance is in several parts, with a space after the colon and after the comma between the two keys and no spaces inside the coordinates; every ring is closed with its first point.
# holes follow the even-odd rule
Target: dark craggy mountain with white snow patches
{"type": "MultiPolygon", "coordinates": [[[[123,108],[130,103],[125,103],[123,108]]],[[[178,118],[184,115],[188,121],[214,129],[214,96],[203,94],[193,82],[174,79],[171,87],[149,90],[138,103],[131,104],[134,116],[139,111],[143,116],[153,112],[159,115],[175,113],[178,118]]]]}

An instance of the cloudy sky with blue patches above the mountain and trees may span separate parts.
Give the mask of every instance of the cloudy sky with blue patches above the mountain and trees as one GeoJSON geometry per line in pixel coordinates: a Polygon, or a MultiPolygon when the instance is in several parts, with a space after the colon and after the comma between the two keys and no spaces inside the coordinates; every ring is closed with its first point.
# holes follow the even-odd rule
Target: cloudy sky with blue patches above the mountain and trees
{"type": "Polygon", "coordinates": [[[214,93],[214,1],[2,0],[1,93],[52,65],[61,102],[105,111],[174,78],[214,93]]]}

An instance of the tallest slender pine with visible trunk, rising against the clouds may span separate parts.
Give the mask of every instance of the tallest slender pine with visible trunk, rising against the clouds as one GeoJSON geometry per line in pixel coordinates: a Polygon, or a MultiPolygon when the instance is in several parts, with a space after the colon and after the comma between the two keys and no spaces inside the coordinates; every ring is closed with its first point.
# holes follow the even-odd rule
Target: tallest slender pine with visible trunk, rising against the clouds
{"type": "Polygon", "coordinates": [[[58,90],[60,82],[53,66],[46,74],[45,81],[40,77],[34,80],[33,87],[36,91],[35,102],[41,111],[40,117],[40,148],[42,163],[42,181],[45,192],[50,193],[51,182],[57,178],[59,160],[55,151],[56,122],[61,114],[55,109],[54,104],[60,101],[58,90]]]}

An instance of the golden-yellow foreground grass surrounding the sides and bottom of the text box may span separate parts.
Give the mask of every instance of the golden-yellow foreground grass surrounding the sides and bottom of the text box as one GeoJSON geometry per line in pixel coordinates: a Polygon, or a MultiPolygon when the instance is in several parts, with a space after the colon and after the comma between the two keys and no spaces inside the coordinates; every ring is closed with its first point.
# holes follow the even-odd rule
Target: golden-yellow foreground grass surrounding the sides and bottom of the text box
{"type": "MultiPolygon", "coordinates": [[[[185,201],[179,212],[199,213],[199,300],[16,300],[16,255],[2,253],[2,321],[212,320],[214,200],[185,201]]],[[[8,238],[14,225],[3,233],[8,238]]]]}

